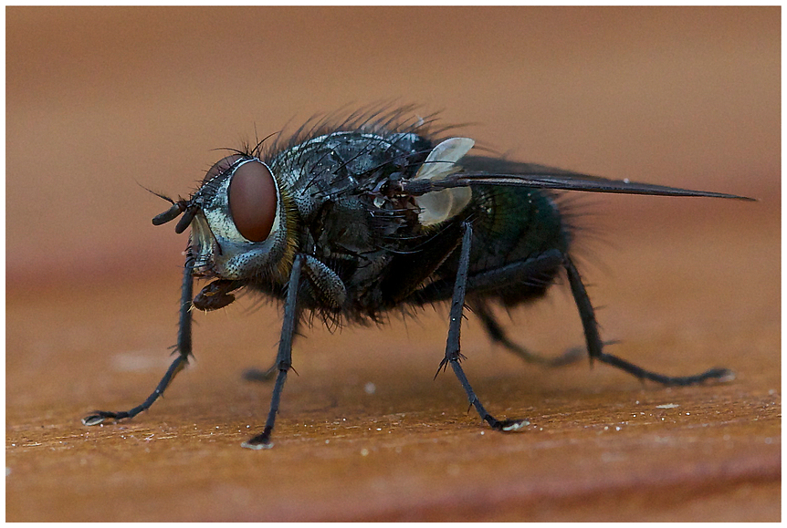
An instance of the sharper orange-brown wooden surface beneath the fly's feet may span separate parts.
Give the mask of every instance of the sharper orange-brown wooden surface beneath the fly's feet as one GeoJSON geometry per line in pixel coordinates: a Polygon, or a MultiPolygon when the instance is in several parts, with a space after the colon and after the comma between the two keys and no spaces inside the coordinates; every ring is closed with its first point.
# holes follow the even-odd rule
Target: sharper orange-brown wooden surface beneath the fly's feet
{"type": "MultiPolygon", "coordinates": [[[[131,421],[86,428],[80,416],[136,405],[166,368],[176,270],[148,285],[11,296],[6,518],[778,520],[777,218],[758,204],[714,205],[719,227],[687,236],[641,225],[656,233],[621,241],[604,258],[614,280],[594,281],[592,294],[607,306],[604,336],[623,341],[615,353],[667,373],[725,366],[738,378],[661,388],[585,362],[543,371],[492,348],[470,316],[467,374],[491,412],[530,419],[516,434],[467,413],[450,372],[432,380],[446,322],[428,312],[308,332],[276,446],[241,449],[268,411],[270,387],[240,374],[273,357],[269,306],[198,315],[196,360],[166,398],[131,421]],[[655,262],[665,248],[677,256],[655,262]]],[[[514,316],[520,341],[553,353],[582,342],[558,293],[514,316]]]]}

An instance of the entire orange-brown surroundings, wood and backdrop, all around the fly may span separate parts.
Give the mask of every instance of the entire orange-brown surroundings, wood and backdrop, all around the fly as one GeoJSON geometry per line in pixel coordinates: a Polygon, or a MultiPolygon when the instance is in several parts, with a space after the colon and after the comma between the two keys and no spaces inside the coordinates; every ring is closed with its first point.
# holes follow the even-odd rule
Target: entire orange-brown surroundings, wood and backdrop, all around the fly
{"type": "MultiPolygon", "coordinates": [[[[8,519],[777,518],[780,16],[778,7],[6,8],[8,519]],[[197,317],[195,368],[167,399],[129,424],[82,428],[94,406],[147,394],[173,343],[185,237],[151,225],[167,203],[138,183],[187,194],[223,155],[216,148],[392,100],[473,123],[462,133],[515,159],[760,198],[586,200],[603,212],[588,219],[603,236],[582,245],[583,269],[607,306],[604,330],[624,341],[616,351],[671,372],[720,363],[739,380],[665,392],[583,364],[544,374],[490,349],[471,317],[471,379],[495,412],[543,428],[479,437],[456,381],[430,380],[445,314],[339,336],[318,329],[296,349],[300,376],[285,389],[277,449],[249,452],[237,444],[246,424],[264,420],[269,389],[237,375],[268,364],[278,319],[273,308],[233,306],[197,317]],[[362,390],[370,379],[377,402],[362,390]],[[680,398],[683,409],[715,401],[708,416],[733,413],[741,429],[717,420],[704,441],[681,415],[668,431],[656,420],[620,443],[582,436],[613,423],[604,412],[616,405],[680,398]],[[415,421],[396,418],[401,409],[415,421]],[[357,429],[337,437],[331,424],[344,416],[357,429]],[[390,445],[369,436],[377,419],[394,424],[390,445]],[[299,420],[317,436],[296,435],[299,420]],[[766,429],[742,425],[755,422],[766,429]],[[232,434],[214,436],[216,424],[232,434]],[[129,430],[163,440],[130,445],[129,430]],[[699,447],[659,455],[642,440],[651,433],[699,447]],[[357,455],[362,440],[376,461],[357,455]],[[698,461],[673,467],[673,457],[698,461]],[[651,478],[656,468],[663,478],[651,478]],[[723,475],[736,483],[717,486],[723,475]]],[[[553,297],[515,318],[520,341],[551,351],[581,343],[567,295],[553,297]]]]}

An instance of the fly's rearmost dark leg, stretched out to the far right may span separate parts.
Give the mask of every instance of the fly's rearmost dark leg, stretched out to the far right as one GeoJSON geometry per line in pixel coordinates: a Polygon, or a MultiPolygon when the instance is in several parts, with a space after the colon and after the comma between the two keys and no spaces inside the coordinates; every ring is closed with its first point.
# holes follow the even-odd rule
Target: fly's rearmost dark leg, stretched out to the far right
{"type": "Polygon", "coordinates": [[[587,295],[587,291],[585,291],[584,285],[582,285],[582,278],[568,255],[565,255],[563,265],[568,273],[569,284],[572,287],[572,295],[574,296],[574,301],[577,304],[580,317],[582,318],[582,327],[584,328],[585,340],[591,360],[598,359],[602,363],[620,368],[637,378],[650,379],[664,385],[694,385],[708,379],[728,381],[735,377],[735,374],[727,368],[711,368],[694,376],[665,376],[645,370],[645,368],[637,367],[635,364],[629,363],[612,354],[606,354],[603,352],[603,342],[601,336],[599,336],[598,323],[593,313],[593,305],[591,304],[590,297],[587,295]]]}

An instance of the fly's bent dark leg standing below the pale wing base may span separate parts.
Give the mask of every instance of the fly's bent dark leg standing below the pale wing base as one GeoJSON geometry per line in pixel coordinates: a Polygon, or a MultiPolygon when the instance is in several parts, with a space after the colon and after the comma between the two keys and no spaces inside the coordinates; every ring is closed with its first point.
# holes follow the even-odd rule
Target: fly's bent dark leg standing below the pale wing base
{"type": "MultiPolygon", "coordinates": [[[[465,371],[459,362],[464,358],[459,352],[459,334],[462,325],[462,311],[465,307],[465,294],[467,292],[467,268],[470,264],[470,240],[473,234],[473,228],[469,223],[464,224],[465,233],[462,237],[462,246],[459,256],[459,269],[456,273],[456,284],[454,285],[454,296],[451,299],[451,314],[448,324],[448,338],[446,340],[446,357],[440,362],[440,367],[437,368],[437,374],[440,370],[445,370],[448,365],[451,366],[458,378],[462,388],[467,393],[467,399],[470,405],[476,408],[478,415],[486,421],[492,429],[512,431],[519,430],[520,428],[528,425],[530,422],[525,419],[506,419],[498,420],[484,409],[481,402],[478,400],[473,388],[467,381],[465,371]]],[[[437,377],[435,374],[435,378],[437,377]]]]}

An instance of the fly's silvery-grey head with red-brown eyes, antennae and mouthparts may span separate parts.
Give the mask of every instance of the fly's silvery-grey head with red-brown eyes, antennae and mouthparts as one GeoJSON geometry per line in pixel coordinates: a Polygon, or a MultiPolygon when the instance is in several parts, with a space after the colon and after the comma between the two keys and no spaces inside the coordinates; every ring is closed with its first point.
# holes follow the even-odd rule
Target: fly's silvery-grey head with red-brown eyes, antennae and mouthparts
{"type": "Polygon", "coordinates": [[[294,247],[288,239],[293,234],[286,202],[268,165],[233,154],[207,171],[191,198],[173,202],[168,211],[153,218],[153,224],[160,225],[183,214],[175,232],[192,228],[188,255],[194,275],[218,279],[194,298],[195,307],[226,306],[235,299],[229,291],[253,282],[279,282],[286,276],[294,247]]]}

